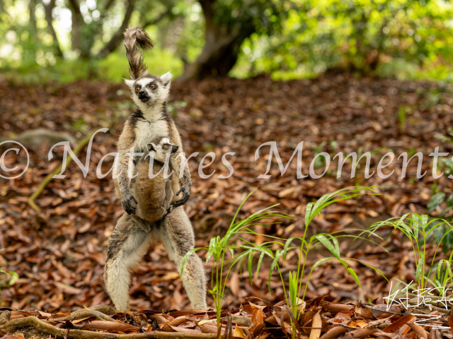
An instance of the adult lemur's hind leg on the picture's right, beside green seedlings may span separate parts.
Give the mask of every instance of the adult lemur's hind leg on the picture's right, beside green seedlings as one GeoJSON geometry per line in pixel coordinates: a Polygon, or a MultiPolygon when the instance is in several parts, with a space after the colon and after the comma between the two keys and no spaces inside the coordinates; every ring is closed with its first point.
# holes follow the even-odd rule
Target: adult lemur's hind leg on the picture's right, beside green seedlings
{"type": "MultiPolygon", "coordinates": [[[[168,258],[176,263],[179,273],[185,254],[195,246],[193,228],[182,207],[166,216],[159,227],[159,235],[168,252],[168,258]]],[[[197,254],[193,253],[185,262],[181,278],[192,307],[206,309],[205,268],[197,254]]]]}

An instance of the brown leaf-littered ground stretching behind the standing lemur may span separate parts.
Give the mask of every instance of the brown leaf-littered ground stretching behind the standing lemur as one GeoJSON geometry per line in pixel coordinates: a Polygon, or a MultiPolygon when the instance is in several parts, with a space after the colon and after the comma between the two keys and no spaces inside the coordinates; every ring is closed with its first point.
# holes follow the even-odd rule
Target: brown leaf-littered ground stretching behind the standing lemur
{"type": "MultiPolygon", "coordinates": [[[[433,179],[428,157],[435,147],[451,152],[452,145],[435,137],[447,135],[453,126],[452,88],[432,83],[409,81],[357,80],[347,76],[318,78],[290,82],[275,82],[268,78],[248,80],[226,79],[201,83],[175,83],[172,88],[172,112],[183,139],[185,153],[199,152],[190,160],[193,177],[192,196],[185,210],[193,221],[197,246],[207,246],[210,237],[222,234],[231,222],[243,198],[259,186],[244,204],[240,217],[274,203],[282,212],[294,215],[296,221],[283,220],[280,225],[256,227],[264,234],[277,237],[301,236],[304,209],[310,201],[331,191],[362,184],[382,186],[381,196],[362,196],[326,208],[322,218],[312,223],[310,234],[331,232],[345,227],[364,228],[376,220],[403,215],[408,211],[425,213],[433,184],[447,194],[453,191],[452,180],[444,175],[433,179]],[[402,112],[405,112],[404,114],[402,112]],[[403,117],[403,118],[402,118],[403,117]],[[402,122],[403,120],[403,122],[402,122]],[[286,174],[274,162],[269,179],[258,179],[265,174],[269,146],[256,149],[262,143],[276,141],[284,164],[297,144],[304,141],[302,173],[309,174],[311,160],[319,152],[373,152],[372,168],[376,171],[380,157],[393,151],[398,157],[407,151],[411,156],[423,152],[423,179],[415,178],[413,161],[405,179],[401,179],[401,160],[394,160],[384,174],[395,170],[387,179],[377,174],[365,179],[365,160],[350,179],[350,164],[343,167],[336,178],[338,161],[320,179],[296,178],[296,157],[286,174]],[[201,179],[198,165],[207,153],[216,157],[201,179]],[[227,155],[234,174],[222,165],[227,155]]],[[[81,169],[71,162],[64,179],[53,179],[36,200],[48,222],[38,222],[35,211],[28,206],[28,196],[37,189],[42,179],[62,162],[62,148],[55,148],[54,158],[47,159],[50,143],[23,141],[30,152],[30,168],[19,179],[0,179],[0,266],[16,271],[18,281],[8,287],[6,275],[0,275],[1,305],[16,309],[38,309],[55,313],[71,311],[82,305],[110,304],[103,285],[103,264],[108,237],[123,209],[114,197],[110,176],[96,177],[99,160],[115,152],[115,140],[122,123],[132,111],[132,103],[125,85],[82,81],[67,85],[8,85],[0,83],[0,135],[12,138],[30,129],[44,128],[67,132],[83,138],[94,128],[108,127],[110,133],[98,133],[93,143],[90,171],[86,178],[81,169]]],[[[0,146],[5,150],[4,145],[0,146]]],[[[86,148],[81,155],[85,163],[86,148]]],[[[23,157],[13,152],[5,162],[25,167],[23,157]]],[[[207,157],[205,164],[210,162],[207,157]]],[[[107,157],[102,170],[108,172],[113,157],[107,157]]],[[[322,164],[321,164],[322,165],[322,164]]],[[[8,165],[9,166],[9,165],[8,165]]],[[[315,169],[323,172],[323,166],[315,169]]],[[[437,211],[431,213],[436,215],[437,211]]],[[[266,237],[251,238],[264,242],[266,237]]],[[[343,242],[343,256],[360,258],[376,266],[387,278],[411,281],[415,278],[415,263],[411,246],[399,234],[380,242],[389,253],[364,242],[343,242]]],[[[433,249],[430,249],[433,251],[433,249]]],[[[204,252],[199,252],[204,256],[204,252]]],[[[312,261],[326,253],[313,252],[312,261]]],[[[440,256],[439,258],[442,258],[440,256]]],[[[355,285],[343,266],[327,263],[311,276],[307,297],[314,299],[331,295],[335,302],[350,300],[368,302],[382,297],[389,290],[384,278],[356,261],[348,262],[359,276],[362,287],[355,285]]],[[[210,263],[206,265],[210,270],[210,263]]],[[[289,258],[282,270],[285,278],[289,270],[297,268],[297,255],[289,258]]],[[[246,297],[260,297],[275,304],[283,299],[277,275],[267,293],[269,266],[263,266],[254,278],[239,270],[231,274],[226,300],[237,309],[246,297]]],[[[168,261],[159,245],[150,249],[132,278],[130,289],[133,310],[187,309],[190,307],[176,267],[168,261]]],[[[208,304],[213,304],[208,298],[208,304]]],[[[317,304],[316,307],[319,307],[317,304]]],[[[270,309],[267,309],[270,315],[270,309]]],[[[316,313],[316,311],[314,311],[316,313]]],[[[277,320],[275,320],[277,321],[277,320]]]]}

